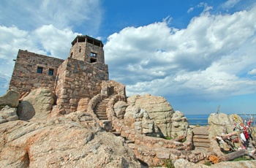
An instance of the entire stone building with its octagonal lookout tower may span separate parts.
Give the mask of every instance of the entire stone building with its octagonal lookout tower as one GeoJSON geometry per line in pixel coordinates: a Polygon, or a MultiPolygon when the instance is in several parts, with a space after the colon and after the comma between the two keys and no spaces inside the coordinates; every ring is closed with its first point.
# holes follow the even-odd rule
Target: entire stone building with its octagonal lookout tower
{"type": "Polygon", "coordinates": [[[56,104],[66,113],[101,93],[102,81],[109,80],[104,45],[89,36],[75,37],[71,44],[66,60],[19,50],[9,90],[18,91],[22,99],[35,88],[50,88],[56,94],[56,104]]]}

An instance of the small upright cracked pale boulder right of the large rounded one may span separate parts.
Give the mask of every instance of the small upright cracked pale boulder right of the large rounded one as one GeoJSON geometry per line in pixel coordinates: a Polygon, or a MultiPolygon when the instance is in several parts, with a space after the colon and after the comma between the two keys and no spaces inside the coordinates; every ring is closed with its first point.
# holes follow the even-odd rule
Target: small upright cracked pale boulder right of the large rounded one
{"type": "Polygon", "coordinates": [[[187,118],[184,116],[183,112],[174,112],[171,121],[171,137],[178,137],[180,135],[186,137],[189,122],[187,121],[187,118]]]}

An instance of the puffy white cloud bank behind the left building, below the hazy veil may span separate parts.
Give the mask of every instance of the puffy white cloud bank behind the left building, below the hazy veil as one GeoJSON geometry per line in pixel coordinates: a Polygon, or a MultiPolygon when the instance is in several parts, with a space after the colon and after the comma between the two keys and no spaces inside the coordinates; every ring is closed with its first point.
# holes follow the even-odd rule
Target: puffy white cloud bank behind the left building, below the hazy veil
{"type": "Polygon", "coordinates": [[[69,55],[70,42],[78,35],[68,28],[61,30],[53,25],[42,26],[34,31],[20,30],[16,26],[0,26],[0,34],[1,91],[5,91],[9,85],[15,64],[13,60],[19,49],[65,59],[69,55]]]}

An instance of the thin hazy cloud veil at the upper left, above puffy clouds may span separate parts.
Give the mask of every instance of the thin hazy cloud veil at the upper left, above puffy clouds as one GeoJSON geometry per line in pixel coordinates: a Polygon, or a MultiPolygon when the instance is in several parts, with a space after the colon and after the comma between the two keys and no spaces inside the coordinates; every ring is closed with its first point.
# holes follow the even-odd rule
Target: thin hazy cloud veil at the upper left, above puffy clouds
{"type": "Polygon", "coordinates": [[[0,19],[5,26],[15,25],[27,30],[53,25],[59,29],[81,26],[86,30],[90,30],[92,26],[93,31],[97,31],[102,18],[99,3],[99,0],[3,0],[0,19]],[[88,26],[90,28],[86,28],[88,26]]]}

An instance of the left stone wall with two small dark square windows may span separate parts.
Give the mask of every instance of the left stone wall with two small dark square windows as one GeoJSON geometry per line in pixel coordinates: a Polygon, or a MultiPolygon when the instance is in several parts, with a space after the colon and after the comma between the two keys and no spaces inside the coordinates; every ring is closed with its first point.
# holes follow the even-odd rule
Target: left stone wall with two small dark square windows
{"type": "Polygon", "coordinates": [[[34,88],[45,87],[53,90],[57,69],[63,61],[59,58],[19,50],[9,90],[18,91],[20,97],[26,96],[34,88]],[[42,73],[37,73],[38,67],[42,68],[42,73]],[[53,75],[48,75],[49,69],[53,69],[53,75]]]}

